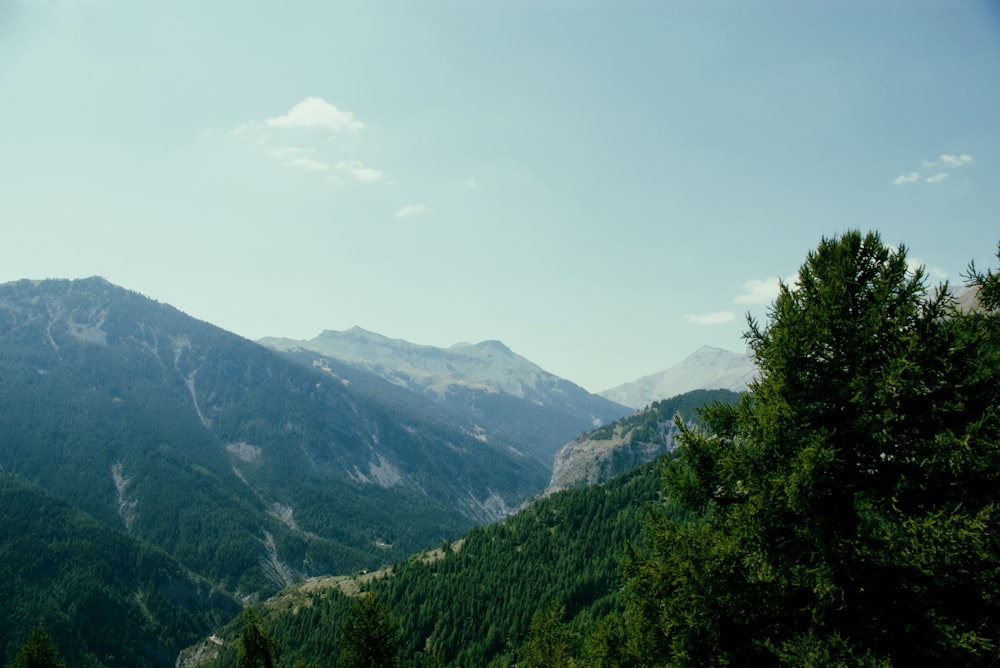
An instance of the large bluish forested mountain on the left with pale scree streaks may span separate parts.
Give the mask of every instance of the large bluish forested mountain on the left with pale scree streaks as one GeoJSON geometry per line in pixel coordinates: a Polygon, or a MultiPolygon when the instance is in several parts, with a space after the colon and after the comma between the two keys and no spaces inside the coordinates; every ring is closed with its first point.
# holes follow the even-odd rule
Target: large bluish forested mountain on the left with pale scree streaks
{"type": "Polygon", "coordinates": [[[535,459],[352,373],[100,278],[0,285],[0,468],[247,600],[399,560],[544,487],[535,459]]]}

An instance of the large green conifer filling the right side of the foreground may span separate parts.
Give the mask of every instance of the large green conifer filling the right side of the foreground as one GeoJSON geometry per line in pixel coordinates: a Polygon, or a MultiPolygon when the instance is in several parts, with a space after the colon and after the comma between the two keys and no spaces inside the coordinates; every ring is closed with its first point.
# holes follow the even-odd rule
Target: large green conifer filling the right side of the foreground
{"type": "Polygon", "coordinates": [[[998,324],[929,292],[905,248],[824,239],[749,323],[750,393],[678,424],[664,486],[694,519],[654,514],[626,569],[644,655],[995,665],[998,324]]]}

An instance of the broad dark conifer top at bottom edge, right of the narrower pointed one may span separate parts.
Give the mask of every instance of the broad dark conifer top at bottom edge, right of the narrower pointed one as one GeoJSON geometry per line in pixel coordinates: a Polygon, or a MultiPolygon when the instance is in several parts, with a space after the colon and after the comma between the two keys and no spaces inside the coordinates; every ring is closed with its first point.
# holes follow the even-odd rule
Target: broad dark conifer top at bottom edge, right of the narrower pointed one
{"type": "Polygon", "coordinates": [[[372,593],[362,594],[341,624],[341,668],[398,666],[400,629],[389,608],[372,593]]]}

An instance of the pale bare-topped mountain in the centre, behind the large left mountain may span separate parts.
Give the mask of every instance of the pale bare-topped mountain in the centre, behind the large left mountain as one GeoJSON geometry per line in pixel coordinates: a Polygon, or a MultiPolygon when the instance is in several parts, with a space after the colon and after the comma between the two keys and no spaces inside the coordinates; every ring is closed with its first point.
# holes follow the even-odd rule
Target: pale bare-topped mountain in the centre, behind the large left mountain
{"type": "Polygon", "coordinates": [[[288,353],[311,351],[375,373],[470,420],[480,438],[514,443],[546,465],[570,438],[631,412],[541,369],[499,341],[437,348],[355,327],[327,330],[308,341],[266,338],[260,343],[288,353]]]}

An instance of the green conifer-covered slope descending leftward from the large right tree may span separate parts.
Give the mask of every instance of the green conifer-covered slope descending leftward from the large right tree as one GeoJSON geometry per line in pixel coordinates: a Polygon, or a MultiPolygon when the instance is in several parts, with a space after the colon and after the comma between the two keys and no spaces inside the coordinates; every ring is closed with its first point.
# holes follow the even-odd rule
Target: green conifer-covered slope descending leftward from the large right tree
{"type": "MultiPolygon", "coordinates": [[[[660,468],[650,462],[541,499],[385,572],[286,589],[262,606],[265,631],[281,643],[282,665],[335,665],[341,621],[354,597],[370,591],[399,620],[413,665],[435,665],[431,654],[443,665],[513,665],[532,616],[553,603],[583,637],[619,606],[625,544],[640,540],[648,508],[661,503],[660,468]]],[[[216,634],[221,645],[200,643],[181,665],[233,665],[238,620],[216,634]]]]}

